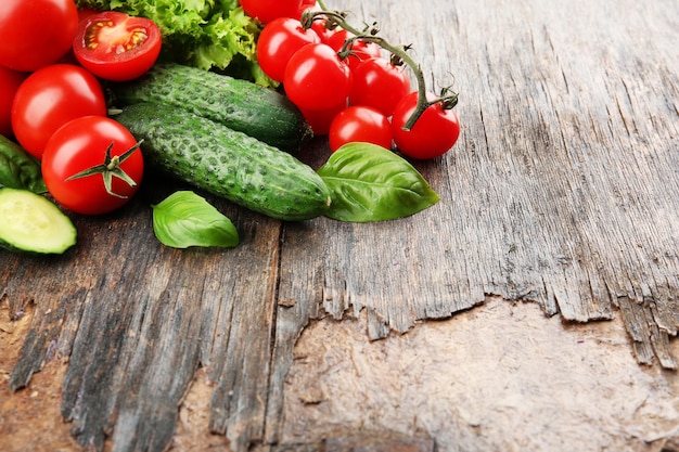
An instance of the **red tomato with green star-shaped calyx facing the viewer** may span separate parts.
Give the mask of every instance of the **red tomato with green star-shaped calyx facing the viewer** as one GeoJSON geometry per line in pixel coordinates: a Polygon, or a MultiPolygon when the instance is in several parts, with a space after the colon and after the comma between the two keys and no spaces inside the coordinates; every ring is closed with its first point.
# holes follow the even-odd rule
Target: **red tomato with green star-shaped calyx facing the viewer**
{"type": "Polygon", "coordinates": [[[48,141],[41,165],[54,199],[82,215],[124,206],[137,193],[144,170],[134,137],[103,116],[84,116],[61,127],[48,141]]]}

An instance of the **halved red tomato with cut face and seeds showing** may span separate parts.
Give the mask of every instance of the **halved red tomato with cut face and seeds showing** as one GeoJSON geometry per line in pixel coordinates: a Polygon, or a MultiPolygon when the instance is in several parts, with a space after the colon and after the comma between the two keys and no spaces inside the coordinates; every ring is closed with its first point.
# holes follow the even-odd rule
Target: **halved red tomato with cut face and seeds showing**
{"type": "Polygon", "coordinates": [[[161,54],[161,30],[153,21],[116,11],[90,15],[80,22],[73,42],[78,62],[105,80],[140,77],[161,54]]]}

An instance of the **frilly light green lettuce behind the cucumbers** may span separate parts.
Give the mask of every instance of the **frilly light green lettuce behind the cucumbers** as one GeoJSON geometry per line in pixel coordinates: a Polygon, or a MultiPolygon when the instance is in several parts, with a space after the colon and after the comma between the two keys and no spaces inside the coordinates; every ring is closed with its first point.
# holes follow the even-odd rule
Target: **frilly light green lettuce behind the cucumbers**
{"type": "Polygon", "coordinates": [[[243,12],[238,0],[76,0],[76,4],[152,20],[163,35],[164,60],[276,85],[257,64],[261,25],[243,12]]]}

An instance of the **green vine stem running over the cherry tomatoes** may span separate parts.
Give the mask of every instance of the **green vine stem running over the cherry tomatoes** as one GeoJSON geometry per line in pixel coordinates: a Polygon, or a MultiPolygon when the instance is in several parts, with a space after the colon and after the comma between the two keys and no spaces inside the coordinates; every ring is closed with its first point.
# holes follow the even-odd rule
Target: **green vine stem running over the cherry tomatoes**
{"type": "Polygon", "coordinates": [[[406,121],[406,124],[403,125],[403,130],[412,129],[412,127],[415,125],[418,119],[420,119],[426,108],[434,104],[440,103],[441,106],[446,109],[452,108],[458,104],[458,93],[452,92],[450,88],[444,88],[441,90],[441,95],[436,99],[432,99],[431,101],[427,99],[427,89],[426,80],[424,79],[424,73],[422,72],[422,67],[420,66],[420,64],[408,53],[408,50],[410,49],[409,46],[395,46],[386,39],[382,38],[381,36],[376,36],[379,29],[374,26],[368,34],[366,31],[361,31],[346,21],[346,14],[343,14],[338,11],[330,11],[323,0],[318,0],[318,4],[322,11],[312,11],[310,13],[305,13],[302,18],[303,26],[308,28],[311,26],[313,20],[324,16],[330,18],[333,25],[336,25],[353,34],[354,37],[345,42],[344,47],[340,51],[341,56],[347,57],[350,54],[351,43],[355,40],[374,42],[382,49],[389,52],[392,55],[396,55],[400,61],[402,61],[412,69],[415,81],[418,83],[418,104],[415,105],[415,109],[413,111],[410,118],[408,118],[408,121],[406,121]]]}

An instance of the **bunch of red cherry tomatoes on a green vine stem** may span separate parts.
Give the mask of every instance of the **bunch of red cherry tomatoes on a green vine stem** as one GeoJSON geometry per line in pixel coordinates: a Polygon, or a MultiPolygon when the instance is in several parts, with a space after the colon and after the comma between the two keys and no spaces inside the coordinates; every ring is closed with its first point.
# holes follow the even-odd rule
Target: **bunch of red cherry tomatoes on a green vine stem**
{"type": "MultiPolygon", "coordinates": [[[[281,9],[298,3],[278,2],[281,9]]],[[[427,159],[453,146],[460,134],[452,109],[458,94],[449,88],[440,96],[428,92],[408,46],[389,43],[376,24],[353,27],[346,14],[326,11],[323,1],[299,8],[300,20],[296,13],[265,24],[257,57],[265,74],[283,83],[315,133],[329,134],[332,151],[350,142],[387,148],[394,142],[407,156],[427,159]],[[414,91],[403,66],[415,76],[414,91]]]]}

